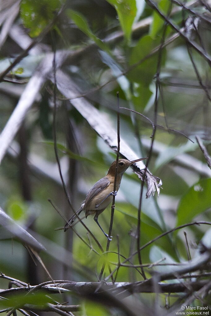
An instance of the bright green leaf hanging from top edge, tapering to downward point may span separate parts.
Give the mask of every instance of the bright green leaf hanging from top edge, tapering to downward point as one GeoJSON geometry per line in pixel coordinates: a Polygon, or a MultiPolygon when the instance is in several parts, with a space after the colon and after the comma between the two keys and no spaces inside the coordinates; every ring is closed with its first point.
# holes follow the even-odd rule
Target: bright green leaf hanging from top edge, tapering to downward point
{"type": "Polygon", "coordinates": [[[135,0],[107,0],[112,4],[118,14],[121,28],[125,34],[127,43],[130,43],[132,25],[136,17],[136,1],[135,0]]]}

